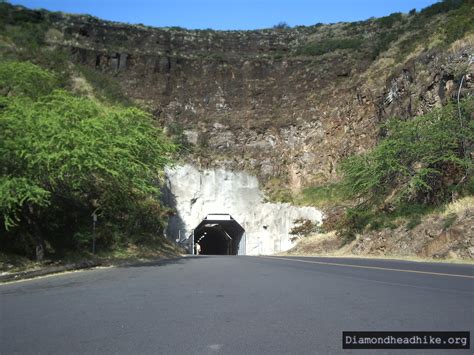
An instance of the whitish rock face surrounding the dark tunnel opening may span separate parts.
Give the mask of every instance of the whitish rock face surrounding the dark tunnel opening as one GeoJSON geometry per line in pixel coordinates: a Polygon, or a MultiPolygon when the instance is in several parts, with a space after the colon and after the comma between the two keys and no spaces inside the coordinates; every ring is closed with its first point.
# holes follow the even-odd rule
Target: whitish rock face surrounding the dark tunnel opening
{"type": "Polygon", "coordinates": [[[181,239],[208,214],[228,213],[246,231],[247,255],[274,254],[290,249],[290,229],[297,218],[321,222],[313,207],[265,203],[258,180],[244,172],[223,169],[199,171],[191,165],[167,168],[168,202],[177,214],[170,218],[167,235],[181,239]]]}

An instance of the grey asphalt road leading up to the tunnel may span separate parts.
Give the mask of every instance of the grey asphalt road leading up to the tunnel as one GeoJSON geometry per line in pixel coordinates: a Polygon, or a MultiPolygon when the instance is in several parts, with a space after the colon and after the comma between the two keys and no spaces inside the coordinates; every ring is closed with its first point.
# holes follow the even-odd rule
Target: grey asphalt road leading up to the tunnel
{"type": "Polygon", "coordinates": [[[0,305],[1,354],[441,354],[342,331],[473,332],[474,266],[199,256],[4,284],[0,305]]]}

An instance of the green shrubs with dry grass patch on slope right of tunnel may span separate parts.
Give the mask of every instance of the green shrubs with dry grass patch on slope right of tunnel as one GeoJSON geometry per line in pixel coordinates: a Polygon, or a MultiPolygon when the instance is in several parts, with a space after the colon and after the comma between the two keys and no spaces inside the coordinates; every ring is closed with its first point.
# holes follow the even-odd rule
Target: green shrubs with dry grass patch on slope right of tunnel
{"type": "Polygon", "coordinates": [[[474,194],[474,99],[450,103],[432,112],[381,126],[382,139],[365,154],[339,166],[337,184],[308,188],[300,201],[350,206],[326,229],[352,240],[366,228],[407,227],[423,214],[454,198],[474,194]]]}

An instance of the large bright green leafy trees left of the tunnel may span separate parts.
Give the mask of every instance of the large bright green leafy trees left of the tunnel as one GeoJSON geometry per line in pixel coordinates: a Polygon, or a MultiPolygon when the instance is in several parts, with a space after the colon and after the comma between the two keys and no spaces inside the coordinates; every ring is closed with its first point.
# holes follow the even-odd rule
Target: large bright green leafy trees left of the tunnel
{"type": "Polygon", "coordinates": [[[57,90],[29,62],[0,64],[0,246],[36,255],[160,235],[160,177],[174,145],[137,108],[57,90]]]}

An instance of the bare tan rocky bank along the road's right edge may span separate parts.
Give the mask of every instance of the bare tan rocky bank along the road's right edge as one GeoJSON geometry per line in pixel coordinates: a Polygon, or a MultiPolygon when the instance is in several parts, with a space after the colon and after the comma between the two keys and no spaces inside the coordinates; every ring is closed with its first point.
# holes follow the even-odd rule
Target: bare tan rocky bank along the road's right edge
{"type": "Polygon", "coordinates": [[[395,229],[369,231],[347,244],[335,232],[301,238],[285,255],[391,257],[401,259],[474,261],[474,198],[450,204],[412,229],[403,223],[395,229]]]}

